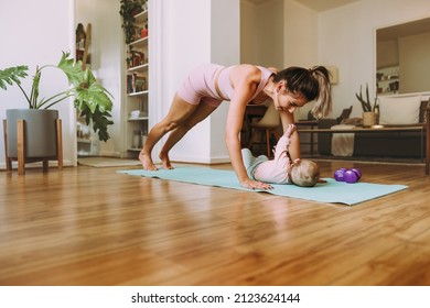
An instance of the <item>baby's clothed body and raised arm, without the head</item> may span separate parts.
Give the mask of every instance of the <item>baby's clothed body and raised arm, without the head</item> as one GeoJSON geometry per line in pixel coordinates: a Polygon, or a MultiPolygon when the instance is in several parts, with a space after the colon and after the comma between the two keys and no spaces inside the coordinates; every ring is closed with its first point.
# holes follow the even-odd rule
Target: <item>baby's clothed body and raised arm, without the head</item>
{"type": "Polygon", "coordinates": [[[243,148],[241,155],[249,178],[272,184],[292,184],[289,145],[290,138],[282,135],[275,148],[275,160],[271,161],[266,155],[254,157],[249,148],[243,148]]]}

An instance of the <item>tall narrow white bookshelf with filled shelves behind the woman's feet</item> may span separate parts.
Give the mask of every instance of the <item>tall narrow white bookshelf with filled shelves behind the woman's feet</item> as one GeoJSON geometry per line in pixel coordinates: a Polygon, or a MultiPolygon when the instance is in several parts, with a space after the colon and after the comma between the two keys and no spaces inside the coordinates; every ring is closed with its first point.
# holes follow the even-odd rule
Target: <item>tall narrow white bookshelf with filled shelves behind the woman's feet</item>
{"type": "Polygon", "coordinates": [[[125,51],[125,146],[127,157],[137,157],[149,129],[149,37],[147,2],[135,14],[132,35],[125,51]]]}

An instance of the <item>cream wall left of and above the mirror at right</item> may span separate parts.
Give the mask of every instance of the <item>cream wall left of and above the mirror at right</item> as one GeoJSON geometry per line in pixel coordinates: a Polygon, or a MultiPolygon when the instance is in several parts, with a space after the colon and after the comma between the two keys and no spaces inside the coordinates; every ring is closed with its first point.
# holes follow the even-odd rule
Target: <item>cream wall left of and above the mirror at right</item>
{"type": "Polygon", "coordinates": [[[375,31],[430,15],[428,0],[368,0],[322,12],[318,18],[318,51],[321,63],[338,67],[340,82],[333,87],[333,114],[354,106],[352,117],[361,117],[355,98],[359,85],[375,92],[375,31]]]}

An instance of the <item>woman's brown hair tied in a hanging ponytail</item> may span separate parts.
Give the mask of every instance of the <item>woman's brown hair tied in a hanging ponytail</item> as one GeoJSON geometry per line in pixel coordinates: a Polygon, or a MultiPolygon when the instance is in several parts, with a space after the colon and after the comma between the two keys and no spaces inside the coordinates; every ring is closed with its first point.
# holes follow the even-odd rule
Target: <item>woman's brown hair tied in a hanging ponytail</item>
{"type": "Polygon", "coordinates": [[[275,75],[273,81],[284,80],[292,92],[301,92],[308,101],[316,100],[312,114],[316,119],[329,116],[332,111],[332,89],[330,73],[324,66],[310,69],[292,66],[275,75]]]}

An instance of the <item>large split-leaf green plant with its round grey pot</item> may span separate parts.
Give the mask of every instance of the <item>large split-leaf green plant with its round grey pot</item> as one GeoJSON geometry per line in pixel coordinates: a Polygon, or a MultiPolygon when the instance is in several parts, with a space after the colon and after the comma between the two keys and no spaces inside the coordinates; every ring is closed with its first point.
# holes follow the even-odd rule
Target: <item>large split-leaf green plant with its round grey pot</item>
{"type": "MultiPolygon", "coordinates": [[[[79,116],[85,117],[87,124],[92,122],[93,130],[98,133],[99,140],[107,141],[110,138],[107,128],[114,124],[109,113],[112,108],[111,95],[96,82],[89,68],[82,69],[80,61],[76,62],[69,53],[63,52],[57,65],[36,67],[30,91],[25,91],[21,86],[21,79],[28,77],[28,70],[29,67],[25,65],[0,69],[0,88],[7,90],[7,85],[17,85],[24,96],[23,101],[28,103],[26,109],[7,110],[7,130],[8,136],[11,136],[8,138],[8,157],[17,157],[17,138],[13,138],[17,135],[17,119],[25,120],[28,125],[25,131],[29,135],[25,135],[25,144],[29,144],[25,146],[25,157],[54,156],[52,153],[55,154],[56,147],[53,140],[56,136],[55,119],[58,118],[58,111],[50,110],[50,108],[71,97],[74,98],[74,107],[79,116]],[[47,68],[61,69],[68,82],[64,91],[47,98],[40,98],[42,72],[47,68]]],[[[17,101],[17,103],[21,102],[21,100],[17,101]]]]}

